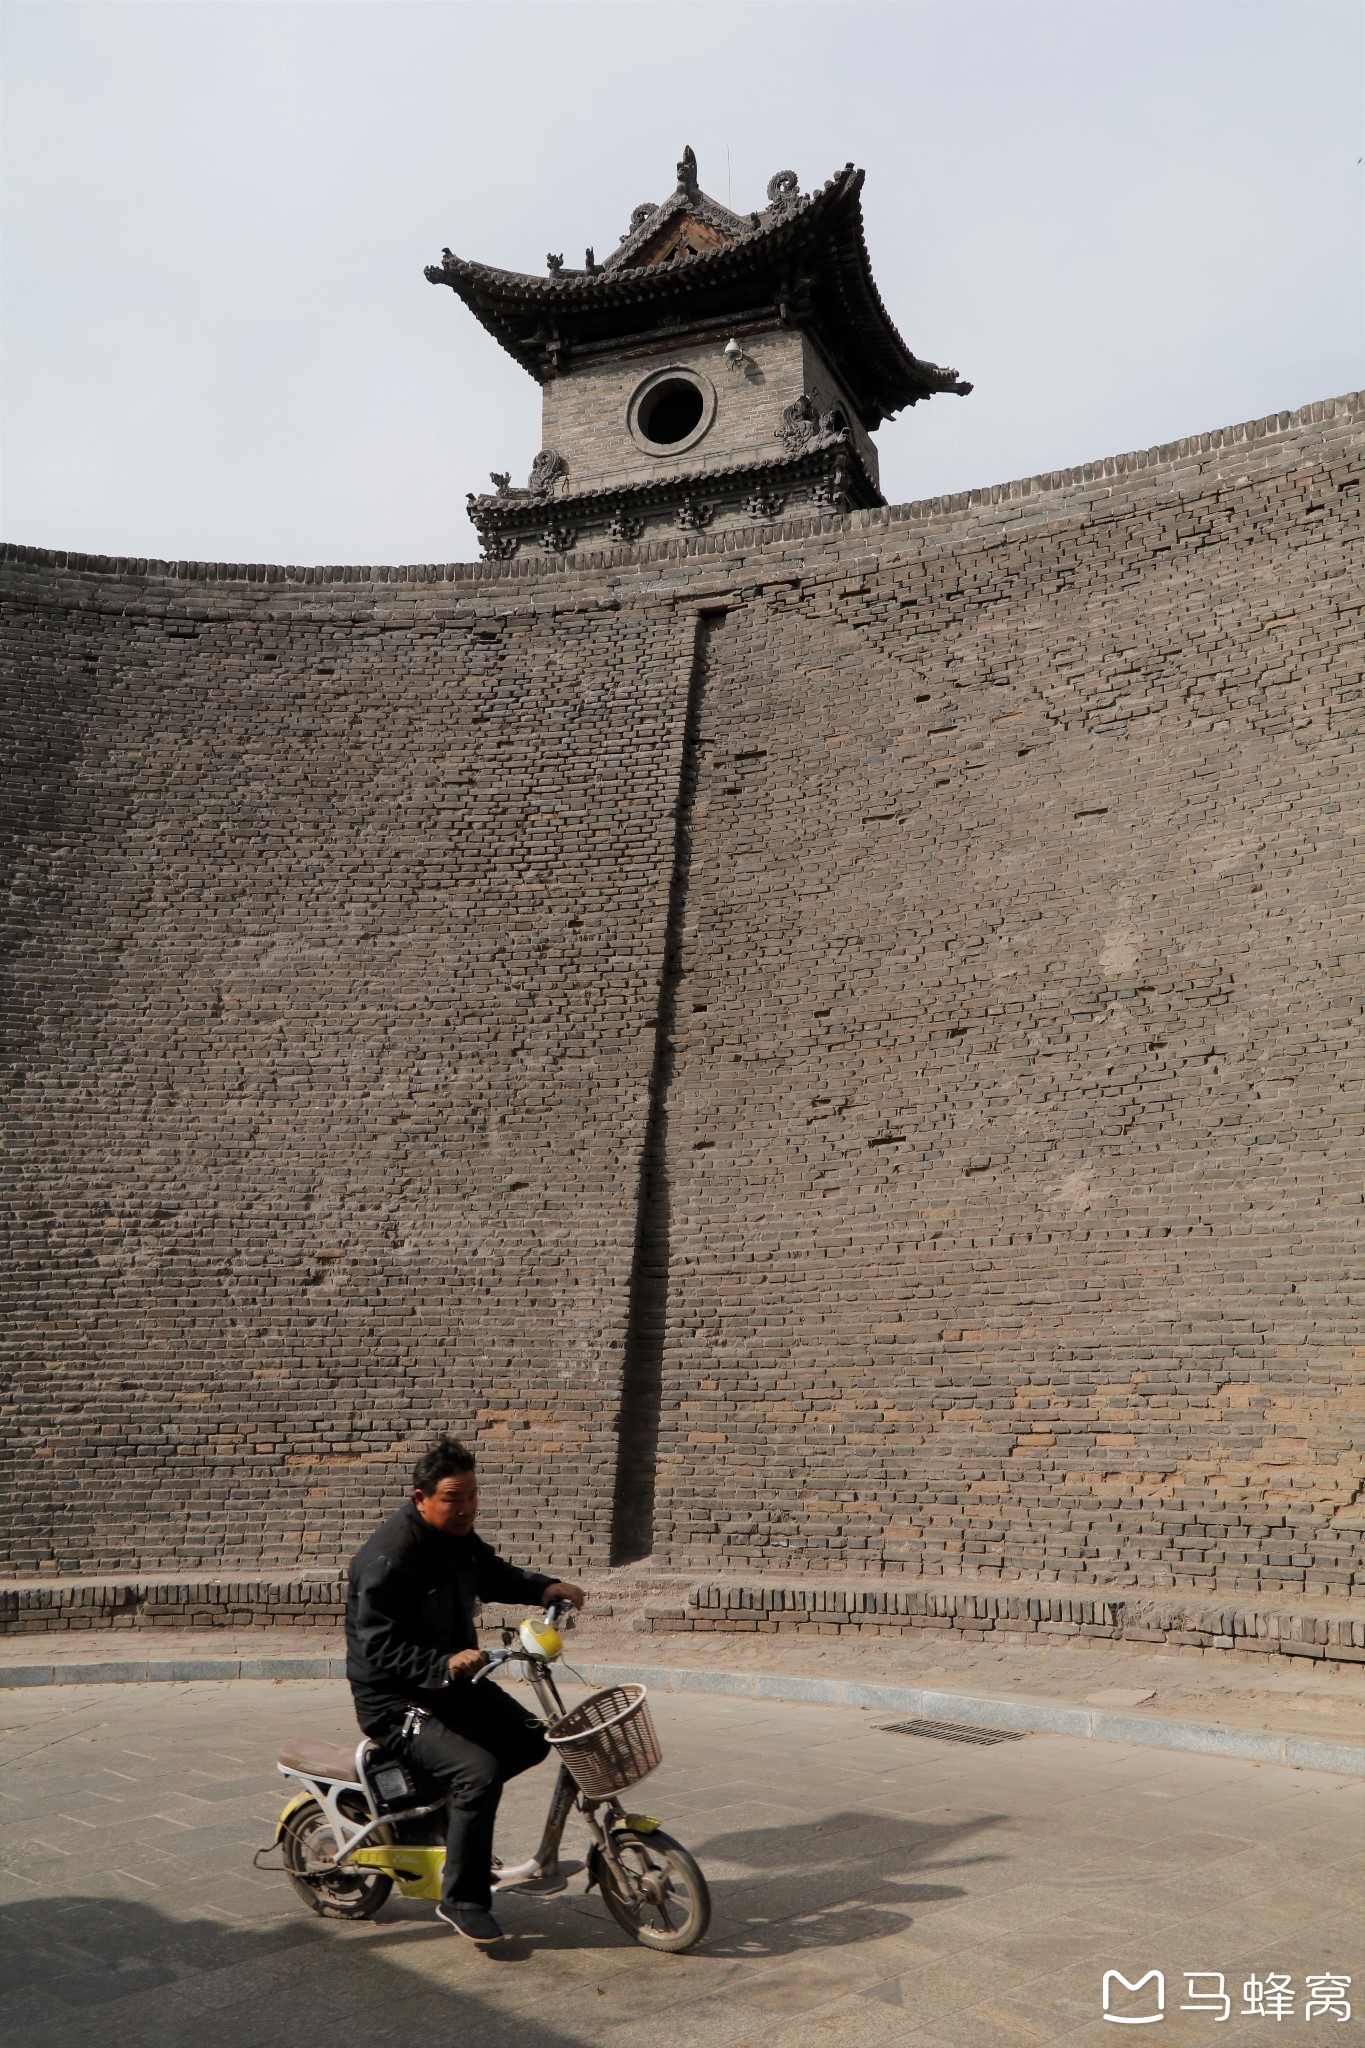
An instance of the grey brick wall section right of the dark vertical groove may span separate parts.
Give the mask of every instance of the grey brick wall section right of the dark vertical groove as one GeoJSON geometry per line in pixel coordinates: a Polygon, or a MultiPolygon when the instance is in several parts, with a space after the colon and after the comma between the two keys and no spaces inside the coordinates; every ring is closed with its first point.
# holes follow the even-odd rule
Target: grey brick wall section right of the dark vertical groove
{"type": "Polygon", "coordinates": [[[841,551],[702,715],[679,1565],[1345,1591],[1359,471],[841,551]]]}

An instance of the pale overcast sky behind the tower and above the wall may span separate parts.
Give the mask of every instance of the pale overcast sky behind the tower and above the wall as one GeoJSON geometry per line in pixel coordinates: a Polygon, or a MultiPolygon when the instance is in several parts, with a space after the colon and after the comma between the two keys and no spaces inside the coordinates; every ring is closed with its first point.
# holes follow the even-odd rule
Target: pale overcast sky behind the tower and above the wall
{"type": "Polygon", "coordinates": [[[1365,383],[1365,14],[1166,0],[0,8],[4,537],[475,557],[540,395],[422,266],[864,164],[892,502],[1365,383]]]}

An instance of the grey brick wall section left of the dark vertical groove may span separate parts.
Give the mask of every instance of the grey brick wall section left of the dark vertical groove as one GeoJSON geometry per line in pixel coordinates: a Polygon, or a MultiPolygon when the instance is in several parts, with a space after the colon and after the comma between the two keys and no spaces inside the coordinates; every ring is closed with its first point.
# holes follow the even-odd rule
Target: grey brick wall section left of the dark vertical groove
{"type": "Polygon", "coordinates": [[[12,1563],[606,1542],[692,625],[12,565],[12,1563]]]}

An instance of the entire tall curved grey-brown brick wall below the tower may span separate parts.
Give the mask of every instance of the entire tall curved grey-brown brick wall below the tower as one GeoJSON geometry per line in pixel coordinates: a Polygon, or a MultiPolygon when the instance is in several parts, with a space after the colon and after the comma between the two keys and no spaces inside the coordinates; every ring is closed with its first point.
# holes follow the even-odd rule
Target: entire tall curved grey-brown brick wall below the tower
{"type": "Polygon", "coordinates": [[[1361,410],[593,557],[10,549],[10,1567],[332,1563],[452,1423],[565,1565],[1347,1595],[1361,410]]]}

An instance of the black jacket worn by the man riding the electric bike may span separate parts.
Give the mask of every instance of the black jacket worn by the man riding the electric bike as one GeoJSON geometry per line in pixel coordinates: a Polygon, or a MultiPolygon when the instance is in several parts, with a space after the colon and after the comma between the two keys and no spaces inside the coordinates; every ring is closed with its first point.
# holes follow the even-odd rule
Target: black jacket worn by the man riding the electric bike
{"type": "Polygon", "coordinates": [[[475,1599],[534,1606],[553,1583],[508,1565],[473,1532],[434,1530],[407,1501],[350,1563],[346,1677],[360,1726],[389,1731],[422,1704],[424,1690],[432,1704],[446,1659],[479,1645],[475,1599]]]}

